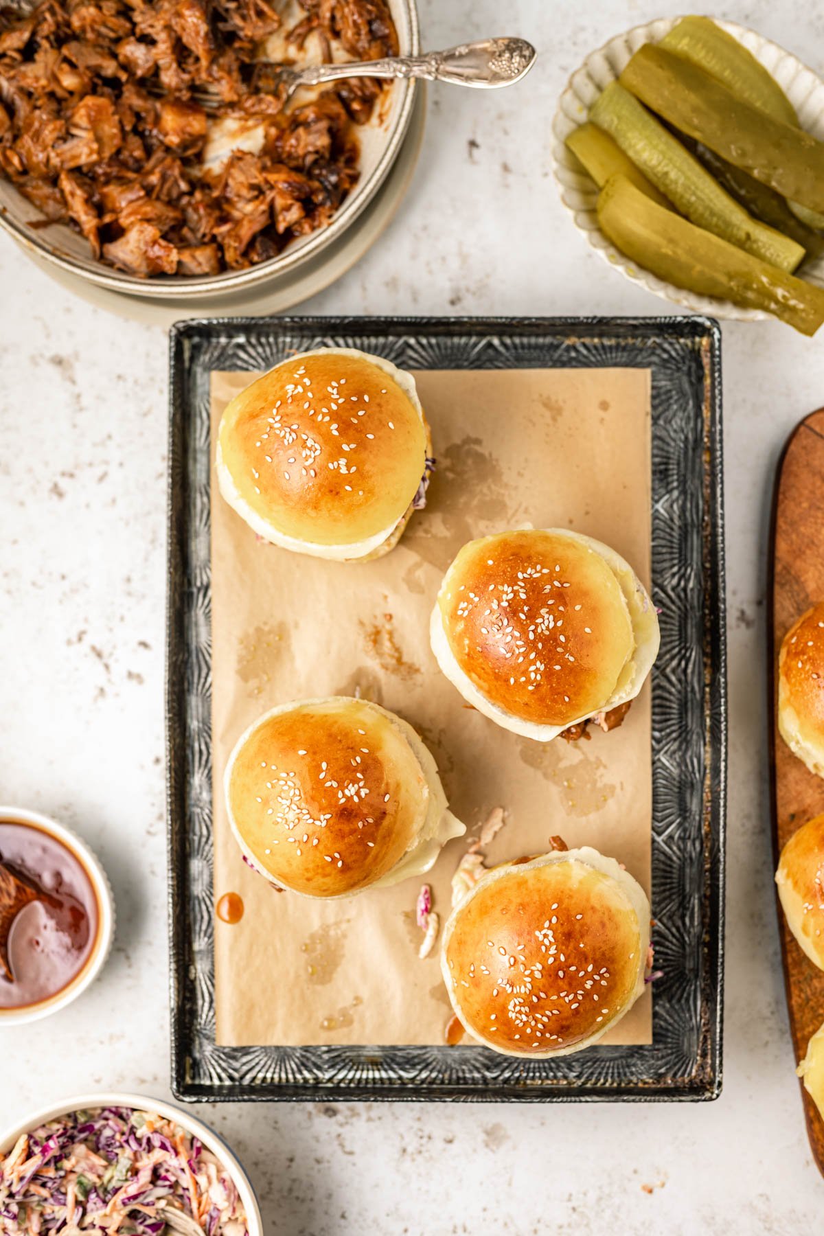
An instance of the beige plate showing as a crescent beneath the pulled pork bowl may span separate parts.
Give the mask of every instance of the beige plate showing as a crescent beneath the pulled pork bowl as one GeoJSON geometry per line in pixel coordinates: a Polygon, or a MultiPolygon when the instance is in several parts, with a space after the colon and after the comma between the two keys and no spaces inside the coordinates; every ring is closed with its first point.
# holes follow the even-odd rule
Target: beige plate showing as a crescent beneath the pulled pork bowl
{"type": "Polygon", "coordinates": [[[424,140],[426,119],[426,96],[423,89],[418,93],[413,108],[409,131],[403,141],[389,174],[363,214],[329,248],[316,253],[295,271],[273,273],[269,278],[253,287],[221,295],[201,295],[196,300],[152,300],[145,297],[128,297],[120,292],[99,288],[88,279],[69,271],[63,271],[40,255],[32,255],[36,266],[62,288],[98,309],[119,314],[147,326],[162,326],[168,330],[175,321],[188,318],[245,316],[266,318],[269,314],[284,313],[301,300],[316,295],[358,262],[374,245],[398,210],[404,194],[411,184],[418,157],[424,140]]]}

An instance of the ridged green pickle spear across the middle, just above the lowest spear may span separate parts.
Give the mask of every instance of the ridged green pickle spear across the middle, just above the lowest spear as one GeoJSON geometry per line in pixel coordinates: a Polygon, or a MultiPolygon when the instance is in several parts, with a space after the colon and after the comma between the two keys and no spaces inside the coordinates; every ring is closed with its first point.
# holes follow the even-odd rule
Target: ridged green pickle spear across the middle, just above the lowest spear
{"type": "Polygon", "coordinates": [[[782,271],[794,271],[804,257],[804,250],[796,241],[752,219],[618,82],[610,82],[599,95],[589,119],[605,130],[673,206],[699,227],[782,271]]]}

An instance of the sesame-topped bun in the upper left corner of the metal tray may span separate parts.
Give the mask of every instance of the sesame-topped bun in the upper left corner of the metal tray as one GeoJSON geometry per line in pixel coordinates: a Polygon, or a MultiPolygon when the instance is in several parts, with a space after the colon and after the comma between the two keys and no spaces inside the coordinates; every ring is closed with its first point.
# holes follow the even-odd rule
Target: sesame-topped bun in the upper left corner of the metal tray
{"type": "Polygon", "coordinates": [[[275,365],[227,404],[220,492],[258,535],[341,561],[385,552],[431,454],[411,375],[329,347],[275,365]]]}

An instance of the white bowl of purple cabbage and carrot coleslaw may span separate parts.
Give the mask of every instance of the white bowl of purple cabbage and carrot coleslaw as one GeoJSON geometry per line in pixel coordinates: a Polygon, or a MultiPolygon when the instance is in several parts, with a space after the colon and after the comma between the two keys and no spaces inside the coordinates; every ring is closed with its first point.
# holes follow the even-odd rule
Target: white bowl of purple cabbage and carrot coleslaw
{"type": "Polygon", "coordinates": [[[173,1104],[80,1095],[0,1135],[1,1236],[172,1236],[168,1208],[206,1236],[263,1236],[236,1156],[173,1104]]]}

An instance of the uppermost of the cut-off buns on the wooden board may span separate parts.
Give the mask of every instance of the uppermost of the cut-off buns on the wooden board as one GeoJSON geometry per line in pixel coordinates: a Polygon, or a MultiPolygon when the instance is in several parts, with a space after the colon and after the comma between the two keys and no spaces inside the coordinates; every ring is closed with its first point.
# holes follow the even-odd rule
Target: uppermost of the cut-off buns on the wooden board
{"type": "Polygon", "coordinates": [[[778,729],[810,772],[824,776],[824,601],[802,614],[781,645],[778,729]]]}

